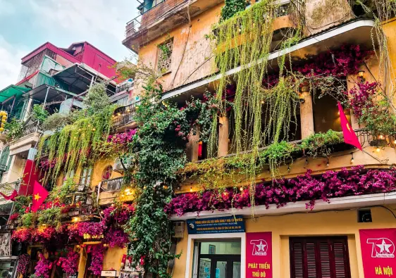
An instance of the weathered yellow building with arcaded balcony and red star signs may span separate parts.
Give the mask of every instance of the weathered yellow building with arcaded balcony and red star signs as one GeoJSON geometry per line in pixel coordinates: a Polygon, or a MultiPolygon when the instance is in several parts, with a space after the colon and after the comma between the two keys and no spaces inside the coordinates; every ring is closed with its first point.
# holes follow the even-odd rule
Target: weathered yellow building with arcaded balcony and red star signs
{"type": "MultiPolygon", "coordinates": [[[[245,8],[245,2],[238,3],[245,8]]],[[[178,172],[178,185],[171,189],[173,198],[165,208],[174,232],[171,253],[180,254],[168,263],[168,274],[175,278],[396,277],[396,128],[381,125],[369,130],[373,122],[385,125],[395,113],[394,4],[385,1],[391,8],[384,12],[384,6],[374,1],[364,7],[338,0],[252,2],[245,11],[221,21],[222,0],[144,0],[141,15],[126,26],[123,44],[138,54],[142,65],[157,72],[164,106],[175,103],[182,108],[185,101],[202,100],[206,91],[216,94],[221,86],[220,94],[225,96],[218,99],[232,103],[232,108],[219,109],[215,115],[217,126],[211,131],[216,130],[216,158],[209,159],[210,140],[203,127],[188,137],[190,163],[178,172]],[[261,17],[254,21],[252,14],[261,17]],[[222,36],[225,41],[213,42],[213,37],[221,41],[222,36]],[[233,56],[234,61],[223,53],[241,55],[233,56]],[[257,61],[245,63],[249,54],[257,61]],[[252,68],[256,72],[249,71],[252,68]],[[282,70],[288,73],[279,74],[282,70]],[[249,110],[254,106],[249,103],[251,95],[261,95],[238,83],[268,92],[279,80],[285,87],[304,80],[292,89],[276,91],[294,91],[297,99],[276,99],[276,103],[254,99],[259,108],[249,110]],[[326,90],[328,94],[323,93],[326,90]],[[238,102],[238,94],[247,91],[249,96],[243,94],[238,102]],[[371,94],[372,106],[366,105],[363,94],[371,94]],[[362,110],[374,110],[384,99],[392,104],[385,115],[361,120],[362,110]],[[287,108],[287,101],[295,103],[295,110],[287,110],[294,115],[280,123],[287,128],[278,130],[276,140],[264,139],[277,128],[281,115],[277,111],[287,108]],[[345,109],[345,124],[338,101],[350,108],[345,109]],[[249,107],[241,108],[240,122],[238,105],[249,107]],[[253,115],[257,110],[259,115],[253,115]],[[272,127],[266,111],[275,118],[272,127]],[[254,127],[256,122],[259,127],[254,127]],[[240,135],[238,126],[245,127],[240,135]],[[351,127],[362,150],[356,148],[356,141],[347,144],[342,137],[341,132],[345,135],[351,127]],[[254,132],[260,134],[260,144],[254,143],[254,132]],[[248,143],[238,146],[238,136],[248,143]],[[278,141],[291,151],[274,150],[278,141]],[[254,168],[253,175],[243,172],[244,155],[252,153],[254,165],[256,160],[266,162],[254,168]]],[[[143,93],[142,84],[135,82],[132,104],[113,113],[111,134],[138,128],[134,117],[143,93]]],[[[75,179],[87,187],[84,194],[89,196],[83,205],[97,201],[98,210],[76,210],[66,222],[99,219],[100,212],[114,203],[134,203],[124,174],[123,163],[113,153],[97,158],[92,168],[76,169],[75,179]]],[[[167,184],[155,182],[168,190],[167,184]]],[[[54,184],[61,186],[63,175],[54,184]]],[[[99,237],[73,243],[80,255],[78,278],[92,276],[88,267],[93,257],[87,246],[103,242],[99,237]]],[[[106,249],[100,276],[138,277],[127,266],[128,249],[106,249]]],[[[56,277],[56,271],[51,275],[56,277]]]]}

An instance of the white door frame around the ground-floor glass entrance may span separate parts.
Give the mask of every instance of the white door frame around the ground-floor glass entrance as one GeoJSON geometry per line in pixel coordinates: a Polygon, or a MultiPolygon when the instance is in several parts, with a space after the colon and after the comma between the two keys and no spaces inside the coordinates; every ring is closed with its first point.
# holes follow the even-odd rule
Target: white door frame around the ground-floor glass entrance
{"type": "Polygon", "coordinates": [[[192,254],[194,253],[194,240],[195,239],[240,239],[241,243],[241,278],[246,277],[246,233],[221,233],[221,234],[189,234],[187,240],[187,261],[185,265],[185,278],[192,277],[192,254]]]}

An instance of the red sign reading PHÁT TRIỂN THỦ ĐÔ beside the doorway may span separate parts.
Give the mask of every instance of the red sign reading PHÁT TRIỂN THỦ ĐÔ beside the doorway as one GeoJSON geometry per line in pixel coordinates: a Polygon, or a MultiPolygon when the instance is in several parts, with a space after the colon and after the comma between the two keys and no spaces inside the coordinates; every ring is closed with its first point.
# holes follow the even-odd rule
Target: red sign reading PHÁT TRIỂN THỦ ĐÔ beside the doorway
{"type": "Polygon", "coordinates": [[[272,278],[271,232],[246,233],[246,277],[272,278]]]}

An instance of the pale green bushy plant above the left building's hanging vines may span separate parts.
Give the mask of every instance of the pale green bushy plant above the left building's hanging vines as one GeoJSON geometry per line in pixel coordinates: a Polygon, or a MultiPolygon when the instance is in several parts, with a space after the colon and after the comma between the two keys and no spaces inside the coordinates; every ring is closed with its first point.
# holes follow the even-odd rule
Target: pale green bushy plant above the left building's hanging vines
{"type": "Polygon", "coordinates": [[[84,104],[88,115],[94,115],[106,112],[106,109],[110,106],[110,98],[106,94],[106,83],[95,83],[88,91],[85,96],[84,104]]]}

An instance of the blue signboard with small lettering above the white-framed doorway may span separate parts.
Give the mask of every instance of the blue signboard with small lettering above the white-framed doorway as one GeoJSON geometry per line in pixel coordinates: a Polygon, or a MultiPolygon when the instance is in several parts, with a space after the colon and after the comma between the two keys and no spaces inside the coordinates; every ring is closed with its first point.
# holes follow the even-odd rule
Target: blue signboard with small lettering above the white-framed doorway
{"type": "Polygon", "coordinates": [[[220,234],[245,232],[242,216],[226,216],[187,220],[188,234],[220,234]]]}

